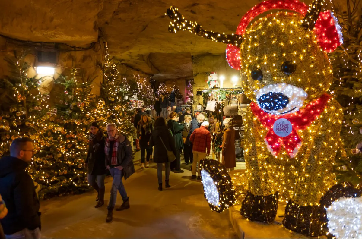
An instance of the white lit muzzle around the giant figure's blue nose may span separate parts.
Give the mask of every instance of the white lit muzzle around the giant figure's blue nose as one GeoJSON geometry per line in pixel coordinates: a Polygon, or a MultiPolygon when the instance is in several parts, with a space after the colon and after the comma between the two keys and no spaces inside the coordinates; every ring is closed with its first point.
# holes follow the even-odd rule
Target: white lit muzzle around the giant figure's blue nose
{"type": "MultiPolygon", "coordinates": [[[[265,112],[274,115],[281,115],[281,114],[298,111],[299,108],[303,106],[304,100],[307,98],[307,96],[308,94],[302,88],[281,83],[281,84],[272,84],[261,88],[260,90],[257,91],[256,99],[259,107],[262,108],[262,110],[264,110],[265,112]],[[265,98],[266,95],[270,93],[281,93],[283,95],[286,95],[289,98],[289,103],[285,107],[278,110],[268,110],[264,108],[263,106],[265,103],[261,105],[258,99],[265,98]]],[[[274,103],[276,103],[277,105],[283,104],[283,102],[274,102],[274,103]]]]}

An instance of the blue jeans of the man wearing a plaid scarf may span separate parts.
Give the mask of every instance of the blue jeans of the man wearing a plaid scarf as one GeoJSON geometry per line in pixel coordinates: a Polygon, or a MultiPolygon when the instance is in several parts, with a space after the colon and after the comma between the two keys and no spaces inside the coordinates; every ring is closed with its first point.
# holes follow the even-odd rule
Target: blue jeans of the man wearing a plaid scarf
{"type": "Polygon", "coordinates": [[[110,168],[109,172],[112,175],[113,183],[111,189],[111,196],[109,198],[108,209],[113,209],[115,206],[115,201],[117,200],[117,191],[122,196],[123,201],[127,201],[127,192],[125,186],[122,183],[123,178],[123,170],[119,170],[118,168],[110,168]]]}

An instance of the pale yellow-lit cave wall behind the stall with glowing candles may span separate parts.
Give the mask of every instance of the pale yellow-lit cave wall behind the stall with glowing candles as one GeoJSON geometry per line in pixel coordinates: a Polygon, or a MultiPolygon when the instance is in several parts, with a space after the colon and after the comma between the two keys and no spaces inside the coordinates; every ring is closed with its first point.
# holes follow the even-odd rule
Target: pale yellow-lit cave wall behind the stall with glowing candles
{"type": "MultiPolygon", "coordinates": [[[[223,82],[223,88],[231,88],[233,87],[233,82],[231,78],[233,76],[237,76],[239,81],[237,82],[237,86],[240,85],[240,72],[232,69],[226,61],[225,55],[201,55],[195,56],[192,58],[192,71],[194,74],[194,85],[193,85],[193,109],[197,109],[197,105],[201,105],[202,107],[206,107],[206,105],[202,104],[202,96],[196,95],[198,89],[208,88],[207,73],[216,72],[218,73],[218,78],[220,76],[224,76],[225,80],[223,82]]],[[[220,84],[220,80],[219,84],[220,84]]]]}

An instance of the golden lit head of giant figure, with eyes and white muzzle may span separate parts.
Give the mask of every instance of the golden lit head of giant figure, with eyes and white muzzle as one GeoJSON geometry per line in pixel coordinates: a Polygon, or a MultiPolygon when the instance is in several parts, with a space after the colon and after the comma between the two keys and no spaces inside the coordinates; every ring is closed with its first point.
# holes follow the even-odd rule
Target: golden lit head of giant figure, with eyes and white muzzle
{"type": "Polygon", "coordinates": [[[245,31],[240,46],[245,94],[271,114],[298,110],[332,83],[328,56],[301,20],[295,13],[270,14],[245,31]]]}

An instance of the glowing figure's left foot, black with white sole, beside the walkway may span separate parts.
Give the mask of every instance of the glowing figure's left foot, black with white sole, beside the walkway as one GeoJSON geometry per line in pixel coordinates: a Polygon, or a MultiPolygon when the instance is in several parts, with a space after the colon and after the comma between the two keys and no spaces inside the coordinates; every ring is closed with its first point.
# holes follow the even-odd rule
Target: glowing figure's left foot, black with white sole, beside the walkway
{"type": "Polygon", "coordinates": [[[199,166],[204,196],[211,210],[221,213],[235,203],[231,177],[224,165],[216,160],[203,159],[199,166]]]}

